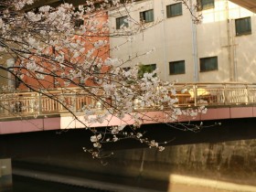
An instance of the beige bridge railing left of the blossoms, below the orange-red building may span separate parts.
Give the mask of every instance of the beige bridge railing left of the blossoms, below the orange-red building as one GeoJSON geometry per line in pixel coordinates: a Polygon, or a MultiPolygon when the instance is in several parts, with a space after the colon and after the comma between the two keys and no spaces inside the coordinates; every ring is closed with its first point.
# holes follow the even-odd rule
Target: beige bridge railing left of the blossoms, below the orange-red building
{"type": "Polygon", "coordinates": [[[96,106],[97,101],[80,89],[66,91],[0,93],[0,118],[37,116],[61,112],[81,112],[84,106],[96,106]]]}

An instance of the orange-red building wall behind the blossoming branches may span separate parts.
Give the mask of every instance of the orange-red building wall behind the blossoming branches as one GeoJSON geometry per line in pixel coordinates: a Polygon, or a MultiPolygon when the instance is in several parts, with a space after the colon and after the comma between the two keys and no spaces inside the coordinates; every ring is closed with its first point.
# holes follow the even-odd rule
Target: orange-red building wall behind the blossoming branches
{"type": "MultiPolygon", "coordinates": [[[[73,1],[69,0],[67,3],[73,4],[74,7],[78,7],[78,5],[85,5],[85,1],[79,0],[79,1],[73,1]]],[[[100,1],[96,1],[101,2],[100,1]]],[[[50,0],[50,1],[37,1],[35,5],[27,6],[27,10],[33,10],[32,8],[37,8],[41,5],[51,5],[53,7],[58,7],[59,5],[63,4],[63,1],[59,0],[50,0]]],[[[95,5],[96,5],[95,3],[95,5]]],[[[86,6],[86,5],[85,5],[86,6]]],[[[25,9],[25,11],[27,11],[25,9]]],[[[98,11],[97,14],[94,14],[93,16],[84,15],[84,19],[76,19],[74,18],[74,27],[76,29],[76,33],[80,34],[80,26],[84,25],[86,26],[86,29],[84,34],[82,36],[80,35],[70,35],[68,38],[68,42],[66,44],[69,44],[67,47],[60,47],[58,46],[47,46],[42,50],[42,55],[37,56],[37,54],[30,55],[30,59],[35,62],[35,65],[39,66],[39,69],[41,69],[41,72],[44,72],[45,74],[43,78],[40,78],[37,72],[25,67],[23,68],[23,64],[29,62],[28,59],[24,59],[23,57],[19,57],[16,53],[8,53],[8,52],[0,52],[0,65],[7,66],[7,67],[14,67],[14,66],[21,66],[21,69],[15,69],[13,70],[14,73],[23,74],[22,75],[22,82],[21,80],[18,80],[15,75],[8,72],[6,69],[0,69],[0,86],[4,85],[4,88],[7,86],[11,88],[18,89],[20,91],[28,91],[29,88],[33,89],[41,89],[41,90],[50,90],[50,89],[58,89],[60,87],[76,87],[80,84],[85,84],[86,86],[96,86],[98,85],[95,80],[93,79],[93,75],[91,75],[91,78],[84,79],[80,75],[78,78],[74,78],[72,82],[67,82],[68,80],[64,80],[63,76],[69,76],[69,74],[73,75],[72,73],[79,73],[77,66],[82,66],[83,63],[91,62],[94,64],[94,62],[103,63],[105,59],[109,58],[109,45],[106,43],[104,46],[99,46],[99,48],[95,48],[95,44],[98,43],[98,41],[101,41],[103,44],[104,42],[109,42],[108,32],[104,31],[104,27],[102,27],[103,24],[107,22],[108,15],[105,12],[98,11]],[[87,23],[86,23],[87,22],[87,23]],[[95,23],[92,25],[92,23],[95,23]],[[94,30],[97,32],[93,32],[93,27],[99,29],[94,30]],[[92,29],[91,29],[92,28],[92,29]],[[82,42],[82,43],[81,43],[82,42]],[[72,43],[78,43],[81,45],[80,49],[76,49],[76,44],[71,45],[72,43]],[[77,51],[77,56],[75,56],[75,51],[77,51]],[[59,55],[63,55],[63,65],[59,65],[58,57],[59,55]],[[23,60],[24,59],[24,60],[23,60]],[[65,67],[61,67],[65,66],[65,67]]],[[[39,32],[38,32],[39,34],[39,32]]],[[[61,34],[61,33],[59,33],[61,34]]],[[[35,35],[35,34],[33,34],[35,35]]],[[[35,37],[35,36],[31,37],[35,37]]],[[[49,36],[50,37],[50,36],[49,36]]],[[[65,37],[65,36],[63,36],[65,37]]],[[[47,39],[47,37],[45,38],[47,39]]],[[[42,40],[42,39],[41,39],[42,40]]],[[[52,39],[47,39],[48,41],[52,39]]],[[[47,41],[46,40],[46,41],[47,41]]],[[[53,39],[54,40],[54,39],[53,39]]],[[[26,44],[27,42],[22,42],[26,44]]],[[[40,42],[41,44],[44,44],[43,40],[40,42]]],[[[4,45],[4,43],[3,43],[4,45]]],[[[48,44],[47,44],[48,45],[48,44]]],[[[12,45],[16,46],[16,48],[19,48],[17,44],[12,45]]],[[[62,44],[63,46],[63,44],[62,44]]],[[[0,46],[1,47],[1,46],[0,46]]],[[[21,46],[20,46],[21,48],[21,46]]],[[[0,50],[1,51],[1,50],[0,50]]],[[[11,51],[10,51],[11,52],[11,51]]],[[[25,52],[25,51],[24,51],[25,52]]],[[[31,51],[33,52],[33,51],[31,51]]],[[[93,66],[94,67],[94,66],[93,66]]],[[[81,67],[80,67],[81,68],[81,67]]],[[[91,67],[91,70],[92,67],[91,67]]],[[[102,66],[99,69],[95,69],[95,73],[101,72],[105,73],[109,70],[109,67],[102,66]]],[[[94,71],[92,71],[93,73],[94,71]]],[[[80,73],[81,70],[80,70],[80,73]]],[[[71,76],[70,76],[71,77],[71,76]]],[[[71,80],[72,78],[70,78],[71,80]]],[[[0,89],[1,91],[1,89],[0,89]]]]}

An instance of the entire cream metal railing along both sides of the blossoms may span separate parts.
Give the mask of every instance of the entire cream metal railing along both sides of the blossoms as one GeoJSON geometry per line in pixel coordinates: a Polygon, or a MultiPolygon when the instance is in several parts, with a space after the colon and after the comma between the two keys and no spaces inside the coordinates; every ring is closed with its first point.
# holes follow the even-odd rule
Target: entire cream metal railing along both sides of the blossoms
{"type": "MultiPolygon", "coordinates": [[[[81,112],[84,106],[101,110],[101,103],[79,88],[66,91],[47,91],[43,93],[15,92],[0,93],[0,118],[15,116],[37,116],[62,112],[81,112]]],[[[244,83],[186,83],[176,84],[176,107],[227,106],[256,104],[256,84],[244,83]]],[[[140,107],[134,101],[136,110],[152,111],[140,107]]]]}

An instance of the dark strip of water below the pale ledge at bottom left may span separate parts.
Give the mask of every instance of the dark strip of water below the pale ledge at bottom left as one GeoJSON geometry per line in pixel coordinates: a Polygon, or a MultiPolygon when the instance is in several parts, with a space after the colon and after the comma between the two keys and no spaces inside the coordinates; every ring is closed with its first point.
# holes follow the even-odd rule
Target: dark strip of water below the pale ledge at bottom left
{"type": "Polygon", "coordinates": [[[75,187],[37,180],[24,176],[13,176],[12,192],[100,192],[98,189],[75,187]]]}

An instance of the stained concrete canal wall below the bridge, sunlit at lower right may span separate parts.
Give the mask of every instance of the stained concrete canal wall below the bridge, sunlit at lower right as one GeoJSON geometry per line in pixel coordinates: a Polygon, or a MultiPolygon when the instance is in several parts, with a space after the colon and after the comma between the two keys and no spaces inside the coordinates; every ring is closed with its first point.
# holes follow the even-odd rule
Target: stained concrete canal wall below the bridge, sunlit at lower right
{"type": "Polygon", "coordinates": [[[246,185],[247,189],[252,188],[238,190],[256,191],[256,140],[168,146],[163,152],[148,148],[122,150],[101,160],[81,153],[34,157],[16,162],[62,167],[64,170],[112,178],[125,177],[127,182],[130,180],[135,185],[150,179],[163,182],[162,191],[168,191],[168,185],[179,182],[178,179],[183,179],[187,185],[203,183],[208,187],[222,186],[223,190],[226,186],[229,191],[246,185]]]}

